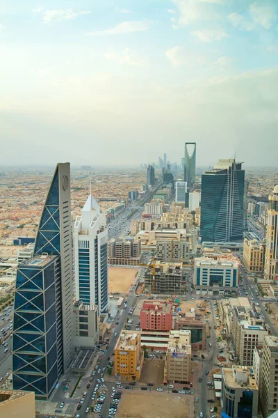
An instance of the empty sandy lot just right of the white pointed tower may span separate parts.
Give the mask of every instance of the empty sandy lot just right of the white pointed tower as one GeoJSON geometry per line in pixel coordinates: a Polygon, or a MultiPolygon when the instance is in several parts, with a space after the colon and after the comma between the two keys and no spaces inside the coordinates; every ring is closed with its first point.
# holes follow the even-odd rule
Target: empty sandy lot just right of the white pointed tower
{"type": "Polygon", "coordinates": [[[109,293],[126,293],[131,284],[136,281],[136,273],[140,268],[130,267],[109,267],[108,268],[108,286],[109,293]]]}

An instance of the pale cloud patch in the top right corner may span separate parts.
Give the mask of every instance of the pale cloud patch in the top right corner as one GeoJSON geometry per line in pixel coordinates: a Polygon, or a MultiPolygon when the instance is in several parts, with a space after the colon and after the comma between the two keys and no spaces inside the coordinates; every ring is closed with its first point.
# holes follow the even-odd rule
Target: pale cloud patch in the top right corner
{"type": "Polygon", "coordinates": [[[270,29],[277,18],[277,10],[271,1],[255,1],[250,5],[250,15],[255,24],[270,29]]]}

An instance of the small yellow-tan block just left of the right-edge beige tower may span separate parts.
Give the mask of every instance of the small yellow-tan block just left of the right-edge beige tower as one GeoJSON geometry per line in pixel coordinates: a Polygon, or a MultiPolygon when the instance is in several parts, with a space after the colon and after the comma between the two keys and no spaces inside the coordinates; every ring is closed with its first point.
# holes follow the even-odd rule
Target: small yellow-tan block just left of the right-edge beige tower
{"type": "Polygon", "coordinates": [[[250,272],[263,272],[265,246],[257,240],[247,240],[243,243],[243,263],[250,272]]]}

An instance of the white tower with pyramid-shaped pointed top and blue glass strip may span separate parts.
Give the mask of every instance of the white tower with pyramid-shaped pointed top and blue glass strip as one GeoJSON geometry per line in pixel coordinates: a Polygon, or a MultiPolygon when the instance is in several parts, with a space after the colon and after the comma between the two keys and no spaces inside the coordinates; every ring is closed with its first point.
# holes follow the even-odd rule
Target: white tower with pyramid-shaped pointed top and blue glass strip
{"type": "Polygon", "coordinates": [[[101,314],[108,307],[108,236],[106,217],[92,194],[76,217],[73,233],[75,298],[97,305],[101,314]]]}

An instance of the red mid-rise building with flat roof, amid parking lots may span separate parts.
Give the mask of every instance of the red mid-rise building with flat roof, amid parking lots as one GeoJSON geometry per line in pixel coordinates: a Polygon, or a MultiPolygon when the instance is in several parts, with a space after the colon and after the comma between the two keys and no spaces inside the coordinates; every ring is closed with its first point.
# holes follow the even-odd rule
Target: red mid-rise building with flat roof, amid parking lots
{"type": "Polygon", "coordinates": [[[144,331],[170,331],[172,317],[171,302],[145,300],[140,311],[140,325],[144,331]]]}

